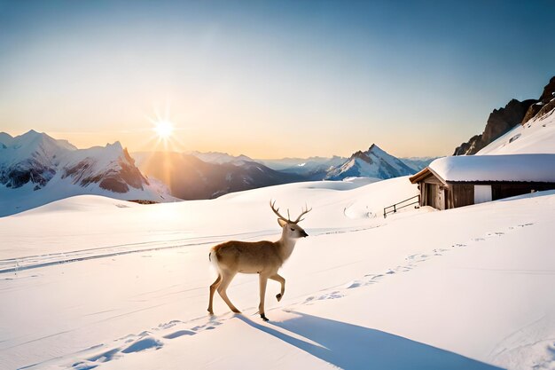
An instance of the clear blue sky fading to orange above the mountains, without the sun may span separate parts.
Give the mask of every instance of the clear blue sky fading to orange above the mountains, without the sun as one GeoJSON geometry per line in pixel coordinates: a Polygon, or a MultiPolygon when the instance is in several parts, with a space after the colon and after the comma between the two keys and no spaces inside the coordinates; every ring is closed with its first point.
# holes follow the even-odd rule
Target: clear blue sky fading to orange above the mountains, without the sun
{"type": "Polygon", "coordinates": [[[253,158],[452,154],[555,75],[552,1],[4,1],[0,131],[253,158]]]}

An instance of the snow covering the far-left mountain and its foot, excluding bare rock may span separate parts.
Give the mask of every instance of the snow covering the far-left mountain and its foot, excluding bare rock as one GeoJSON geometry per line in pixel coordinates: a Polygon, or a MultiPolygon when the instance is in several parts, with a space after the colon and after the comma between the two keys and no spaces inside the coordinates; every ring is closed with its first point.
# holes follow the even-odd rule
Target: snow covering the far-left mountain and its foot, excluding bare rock
{"type": "MultiPolygon", "coordinates": [[[[7,137],[9,135],[6,134],[4,138],[7,137]]],[[[80,194],[97,194],[123,200],[177,201],[168,195],[167,186],[157,181],[152,185],[143,184],[143,189],[129,186],[126,193],[113,193],[101,188],[96,182],[84,186],[79,183],[80,178],[103,177],[110,171],[118,172],[121,169],[120,161],[127,161],[120,142],[77,149],[66,140],[57,140],[35,130],[11,140],[6,139],[6,142],[10,146],[0,147],[0,170],[9,169],[13,165],[24,169],[38,166],[52,169],[52,173],[46,174],[50,177],[48,182],[38,189],[35,189],[36,184],[32,182],[17,188],[0,184],[0,216],[12,215],[80,194]],[[65,176],[66,169],[82,161],[86,161],[86,165],[82,166],[79,174],[65,176]]]]}

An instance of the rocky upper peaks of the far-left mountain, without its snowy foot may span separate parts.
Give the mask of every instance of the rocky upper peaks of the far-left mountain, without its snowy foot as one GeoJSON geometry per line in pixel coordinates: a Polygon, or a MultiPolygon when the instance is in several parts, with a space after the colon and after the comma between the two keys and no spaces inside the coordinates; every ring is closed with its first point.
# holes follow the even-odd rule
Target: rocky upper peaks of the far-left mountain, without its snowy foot
{"type": "Polygon", "coordinates": [[[127,193],[129,186],[144,190],[144,185],[149,185],[119,141],[105,147],[77,149],[66,140],[35,130],[1,138],[0,184],[9,188],[30,183],[36,191],[54,177],[70,179],[73,185],[82,187],[96,184],[114,193],[127,193]]]}

